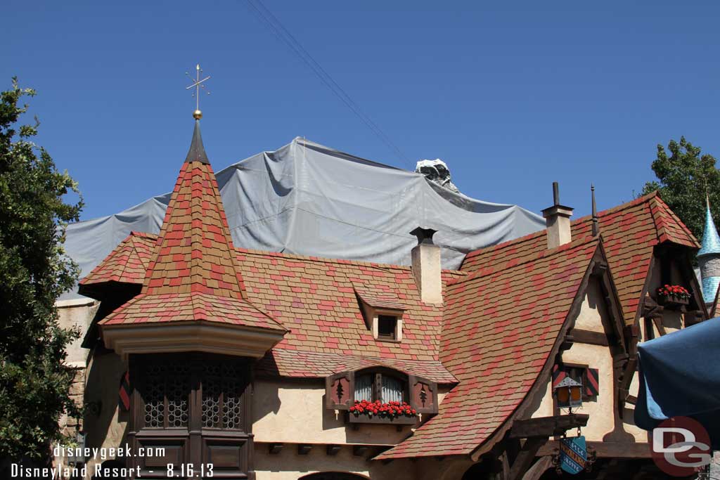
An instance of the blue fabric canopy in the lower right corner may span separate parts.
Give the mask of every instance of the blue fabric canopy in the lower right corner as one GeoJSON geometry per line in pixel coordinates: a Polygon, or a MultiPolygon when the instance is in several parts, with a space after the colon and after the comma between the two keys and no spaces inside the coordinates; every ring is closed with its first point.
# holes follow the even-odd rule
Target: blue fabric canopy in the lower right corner
{"type": "Polygon", "coordinates": [[[635,423],[652,430],[670,417],[692,417],[720,448],[720,317],[638,345],[640,389],[635,423]]]}

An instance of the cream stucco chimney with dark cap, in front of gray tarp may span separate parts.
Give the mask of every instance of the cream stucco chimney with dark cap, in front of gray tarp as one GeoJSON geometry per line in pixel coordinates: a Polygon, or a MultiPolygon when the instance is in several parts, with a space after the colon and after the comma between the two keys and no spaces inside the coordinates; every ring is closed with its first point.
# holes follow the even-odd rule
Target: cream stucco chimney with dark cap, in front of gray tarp
{"type": "Polygon", "coordinates": [[[420,290],[420,299],[429,304],[443,302],[440,247],[433,243],[435,232],[436,230],[423,227],[410,232],[410,235],[418,237],[418,245],[415,245],[412,251],[413,276],[420,290]]]}

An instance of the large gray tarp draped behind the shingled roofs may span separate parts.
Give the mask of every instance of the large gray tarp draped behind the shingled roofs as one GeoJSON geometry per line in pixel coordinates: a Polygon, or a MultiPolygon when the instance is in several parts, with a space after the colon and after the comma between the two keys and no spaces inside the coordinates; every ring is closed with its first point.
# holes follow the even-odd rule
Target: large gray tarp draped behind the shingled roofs
{"type": "MultiPolygon", "coordinates": [[[[211,158],[212,160],[212,158],[211,158]]],[[[178,164],[178,169],[180,165],[178,164]]],[[[295,138],[216,173],[236,247],[410,264],[410,230],[432,227],[444,268],[469,250],[544,228],[538,215],[435,186],[420,175],[295,138]]],[[[82,276],[131,230],[158,233],[170,194],[68,226],[66,251],[82,276]]],[[[77,296],[67,294],[63,296],[77,296]]]]}

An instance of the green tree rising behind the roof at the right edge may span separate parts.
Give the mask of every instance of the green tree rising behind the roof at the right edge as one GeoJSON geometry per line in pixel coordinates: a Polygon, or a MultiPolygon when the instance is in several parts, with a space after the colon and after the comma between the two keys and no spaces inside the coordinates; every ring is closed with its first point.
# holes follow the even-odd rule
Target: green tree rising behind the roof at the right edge
{"type": "Polygon", "coordinates": [[[698,240],[705,226],[705,194],[710,197],[714,218],[720,215],[720,172],[712,155],[701,155],[701,149],[685,137],[670,140],[667,151],[657,145],[657,158],[652,162],[657,180],[649,181],[642,194],[657,190],[660,198],[680,217],[698,240]]]}

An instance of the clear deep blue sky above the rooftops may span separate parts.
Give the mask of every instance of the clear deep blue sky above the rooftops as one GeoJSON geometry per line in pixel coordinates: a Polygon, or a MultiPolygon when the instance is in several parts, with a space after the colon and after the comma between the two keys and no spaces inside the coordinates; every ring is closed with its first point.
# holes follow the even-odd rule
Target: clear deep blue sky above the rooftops
{"type": "Polygon", "coordinates": [[[465,194],[539,212],[561,184],[590,210],[653,178],[658,142],[720,155],[717,2],[269,1],[403,160],[234,2],[15,2],[2,86],[39,95],[37,140],[79,181],[84,219],[172,189],[202,99],[216,170],[305,136],[412,169],[442,158],[465,194]]]}

